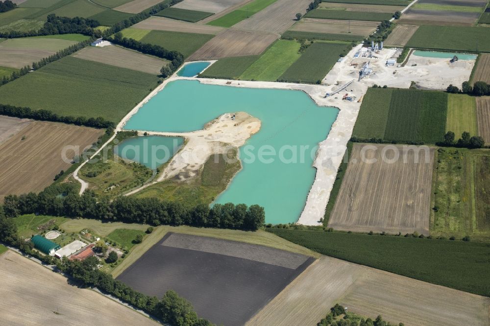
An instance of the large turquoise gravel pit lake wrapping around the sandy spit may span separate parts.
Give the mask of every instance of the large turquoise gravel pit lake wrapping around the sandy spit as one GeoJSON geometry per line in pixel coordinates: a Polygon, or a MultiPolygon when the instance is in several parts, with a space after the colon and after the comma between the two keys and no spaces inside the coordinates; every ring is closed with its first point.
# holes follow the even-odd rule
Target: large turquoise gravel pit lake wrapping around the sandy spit
{"type": "Polygon", "coordinates": [[[262,122],[240,148],[243,169],[215,203],[258,204],[266,223],[296,222],[315,179],[312,166],[338,109],[320,107],[302,91],[252,89],[177,80],[153,96],[125,129],[189,132],[225,113],[244,111],[262,122]]]}

